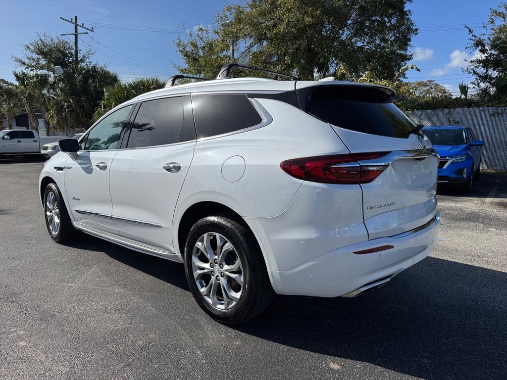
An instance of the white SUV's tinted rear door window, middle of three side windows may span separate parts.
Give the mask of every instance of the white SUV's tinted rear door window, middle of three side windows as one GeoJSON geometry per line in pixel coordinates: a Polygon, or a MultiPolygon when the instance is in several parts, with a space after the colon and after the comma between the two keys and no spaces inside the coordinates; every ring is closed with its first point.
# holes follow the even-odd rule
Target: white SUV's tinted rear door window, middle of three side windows
{"type": "Polygon", "coordinates": [[[163,98],[141,103],[135,117],[128,148],[178,142],[183,125],[183,97],[163,98]]]}

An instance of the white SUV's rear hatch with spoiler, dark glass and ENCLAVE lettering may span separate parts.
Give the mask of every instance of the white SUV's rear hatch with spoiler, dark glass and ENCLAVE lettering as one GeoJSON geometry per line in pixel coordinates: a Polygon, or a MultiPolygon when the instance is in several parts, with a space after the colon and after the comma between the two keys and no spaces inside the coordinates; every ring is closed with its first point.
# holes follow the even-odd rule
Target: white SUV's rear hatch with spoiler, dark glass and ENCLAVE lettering
{"type": "Polygon", "coordinates": [[[430,141],[413,132],[415,125],[392,103],[391,89],[338,83],[296,86],[301,107],[329,123],[360,166],[381,169],[371,182],[360,183],[369,238],[429,222],[437,208],[438,165],[430,141]],[[378,154],[369,159],[365,153],[378,154]]]}

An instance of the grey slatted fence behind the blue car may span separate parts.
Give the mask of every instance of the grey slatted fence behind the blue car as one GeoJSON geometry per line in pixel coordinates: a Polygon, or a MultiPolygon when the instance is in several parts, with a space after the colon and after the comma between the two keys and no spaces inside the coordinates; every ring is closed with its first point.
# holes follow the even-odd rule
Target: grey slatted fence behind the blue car
{"type": "Polygon", "coordinates": [[[472,128],[476,137],[484,140],[481,168],[507,172],[507,107],[424,109],[407,114],[424,126],[472,128]]]}

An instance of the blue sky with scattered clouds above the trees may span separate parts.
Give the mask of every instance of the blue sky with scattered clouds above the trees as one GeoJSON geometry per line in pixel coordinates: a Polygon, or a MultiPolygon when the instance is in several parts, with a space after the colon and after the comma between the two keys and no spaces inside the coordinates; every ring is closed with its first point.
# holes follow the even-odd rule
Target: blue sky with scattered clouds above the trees
{"type": "MultiPolygon", "coordinates": [[[[225,3],[225,0],[0,0],[4,16],[0,78],[12,80],[16,67],[11,56],[21,54],[19,44],[32,39],[37,32],[48,31],[53,35],[73,32],[73,25],[59,17],[70,19],[75,15],[85,26],[96,23],[95,33],[81,36],[80,47],[91,46],[96,51],[95,59],[107,64],[123,80],[146,75],[167,78],[175,73],[173,63],[181,63],[173,40],[177,35],[185,35],[182,25],[192,29],[199,24],[211,24],[225,3]],[[142,28],[145,29],[141,31],[142,28]],[[145,31],[146,28],[160,30],[145,31]]],[[[473,55],[465,50],[468,35],[463,24],[480,28],[489,9],[499,3],[500,0],[415,0],[410,8],[420,31],[412,40],[415,56],[411,63],[421,71],[409,72],[409,79],[434,79],[456,94],[459,82],[472,80],[461,71],[466,65],[464,60],[473,55]]]]}

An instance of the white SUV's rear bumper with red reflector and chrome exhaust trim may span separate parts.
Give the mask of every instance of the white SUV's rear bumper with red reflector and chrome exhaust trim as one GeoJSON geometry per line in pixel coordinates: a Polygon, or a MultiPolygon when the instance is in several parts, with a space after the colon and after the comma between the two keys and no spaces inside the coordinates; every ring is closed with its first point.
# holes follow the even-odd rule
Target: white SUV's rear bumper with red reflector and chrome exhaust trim
{"type": "Polygon", "coordinates": [[[437,211],[422,229],[352,244],[287,271],[271,270],[273,288],[278,294],[353,296],[361,287],[390,279],[428,256],[436,244],[439,223],[437,211]],[[393,248],[375,253],[353,253],[383,245],[393,248]]]}

